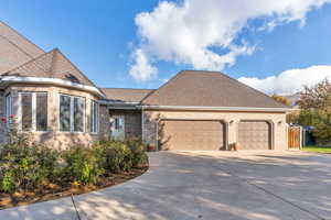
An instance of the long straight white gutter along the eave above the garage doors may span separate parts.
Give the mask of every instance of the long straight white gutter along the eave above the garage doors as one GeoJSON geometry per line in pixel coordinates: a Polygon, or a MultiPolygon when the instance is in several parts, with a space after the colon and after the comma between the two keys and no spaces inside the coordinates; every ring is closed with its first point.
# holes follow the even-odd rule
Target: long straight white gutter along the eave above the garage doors
{"type": "Polygon", "coordinates": [[[253,107],[194,107],[194,106],[141,106],[151,110],[217,110],[217,111],[258,111],[258,112],[287,112],[291,108],[253,108],[253,107]]]}

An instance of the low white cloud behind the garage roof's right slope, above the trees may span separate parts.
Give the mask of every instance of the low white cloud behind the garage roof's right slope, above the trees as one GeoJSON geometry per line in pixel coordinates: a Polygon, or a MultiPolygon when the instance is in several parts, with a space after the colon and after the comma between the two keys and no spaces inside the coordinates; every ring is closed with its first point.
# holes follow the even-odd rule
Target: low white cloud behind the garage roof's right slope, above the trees
{"type": "Polygon", "coordinates": [[[264,79],[241,77],[238,80],[266,94],[292,95],[303,86],[313,86],[324,78],[331,79],[331,66],[310,66],[286,70],[264,79]]]}

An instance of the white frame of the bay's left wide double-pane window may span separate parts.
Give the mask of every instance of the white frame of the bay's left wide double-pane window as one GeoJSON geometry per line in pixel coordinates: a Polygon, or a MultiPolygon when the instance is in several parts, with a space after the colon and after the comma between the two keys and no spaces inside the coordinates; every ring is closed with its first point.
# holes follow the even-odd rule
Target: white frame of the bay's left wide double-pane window
{"type": "Polygon", "coordinates": [[[36,94],[45,94],[47,97],[47,107],[49,107],[49,92],[47,91],[19,91],[18,92],[18,130],[20,132],[38,132],[38,133],[47,133],[49,132],[49,109],[46,110],[47,123],[46,130],[36,131],[36,94]],[[22,130],[22,94],[31,94],[31,130],[22,130]]]}

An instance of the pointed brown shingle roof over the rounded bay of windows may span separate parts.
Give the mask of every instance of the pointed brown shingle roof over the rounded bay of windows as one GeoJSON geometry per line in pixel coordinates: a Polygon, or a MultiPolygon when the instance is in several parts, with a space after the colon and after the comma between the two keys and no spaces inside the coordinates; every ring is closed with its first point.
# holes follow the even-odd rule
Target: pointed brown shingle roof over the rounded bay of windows
{"type": "Polygon", "coordinates": [[[49,53],[42,54],[41,56],[31,59],[2,75],[57,78],[76,84],[96,87],[57,48],[49,53]]]}

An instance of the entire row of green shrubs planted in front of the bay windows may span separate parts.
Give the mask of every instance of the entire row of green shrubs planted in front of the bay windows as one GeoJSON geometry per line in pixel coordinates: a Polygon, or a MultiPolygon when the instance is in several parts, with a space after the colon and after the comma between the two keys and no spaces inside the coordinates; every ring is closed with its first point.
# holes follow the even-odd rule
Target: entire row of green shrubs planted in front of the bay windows
{"type": "Polygon", "coordinates": [[[12,141],[0,146],[0,191],[39,190],[49,184],[88,185],[104,175],[129,172],[148,162],[139,139],[99,141],[65,151],[12,141]]]}

